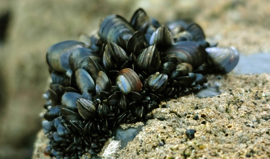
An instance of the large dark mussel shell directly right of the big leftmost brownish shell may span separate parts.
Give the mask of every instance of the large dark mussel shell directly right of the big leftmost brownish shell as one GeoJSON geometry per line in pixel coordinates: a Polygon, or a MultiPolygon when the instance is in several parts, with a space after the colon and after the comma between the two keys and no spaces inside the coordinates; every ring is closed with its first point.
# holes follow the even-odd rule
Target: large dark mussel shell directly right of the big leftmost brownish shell
{"type": "Polygon", "coordinates": [[[83,68],[89,70],[89,57],[98,63],[101,63],[101,57],[98,51],[87,48],[75,49],[69,57],[69,63],[72,70],[83,68]]]}

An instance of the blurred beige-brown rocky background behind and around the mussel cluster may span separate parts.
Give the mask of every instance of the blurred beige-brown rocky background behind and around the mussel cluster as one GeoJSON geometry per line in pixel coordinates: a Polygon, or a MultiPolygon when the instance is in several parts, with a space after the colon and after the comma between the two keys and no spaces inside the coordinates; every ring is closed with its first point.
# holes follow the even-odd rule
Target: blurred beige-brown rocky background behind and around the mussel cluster
{"type": "Polygon", "coordinates": [[[55,43],[78,40],[98,30],[102,18],[128,21],[142,7],[160,23],[192,19],[208,41],[235,46],[241,54],[270,52],[268,0],[1,0],[0,1],[0,158],[29,159],[48,88],[46,51],[55,43]]]}

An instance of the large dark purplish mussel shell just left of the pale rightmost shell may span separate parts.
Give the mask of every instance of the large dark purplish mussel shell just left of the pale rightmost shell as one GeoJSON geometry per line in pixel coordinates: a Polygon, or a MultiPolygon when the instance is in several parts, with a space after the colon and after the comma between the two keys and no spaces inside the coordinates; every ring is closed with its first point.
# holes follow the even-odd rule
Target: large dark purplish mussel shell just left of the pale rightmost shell
{"type": "Polygon", "coordinates": [[[205,49],[198,43],[192,41],[182,41],[175,43],[165,52],[169,57],[176,57],[179,63],[186,62],[192,67],[202,65],[207,59],[205,49]]]}

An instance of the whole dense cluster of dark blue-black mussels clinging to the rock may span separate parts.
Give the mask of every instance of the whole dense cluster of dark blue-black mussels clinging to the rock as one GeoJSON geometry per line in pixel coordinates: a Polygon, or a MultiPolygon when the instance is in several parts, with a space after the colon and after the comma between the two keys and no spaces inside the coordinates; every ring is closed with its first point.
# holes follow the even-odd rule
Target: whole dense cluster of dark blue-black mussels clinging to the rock
{"type": "Polygon", "coordinates": [[[161,100],[199,91],[203,74],[228,73],[239,58],[232,47],[210,46],[198,24],[160,25],[143,9],[130,22],[107,16],[80,41],[46,54],[52,82],[44,94],[44,153],[56,158],[100,152],[117,125],[151,119],[161,100]]]}

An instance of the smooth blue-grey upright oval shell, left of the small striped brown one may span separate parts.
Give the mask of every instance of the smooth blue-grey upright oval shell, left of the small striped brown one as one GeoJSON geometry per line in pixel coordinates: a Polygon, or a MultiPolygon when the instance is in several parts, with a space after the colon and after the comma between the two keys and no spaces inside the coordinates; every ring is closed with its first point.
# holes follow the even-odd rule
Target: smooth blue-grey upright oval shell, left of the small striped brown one
{"type": "Polygon", "coordinates": [[[89,90],[95,91],[95,82],[86,70],[79,68],[75,72],[75,77],[81,93],[89,90]]]}

